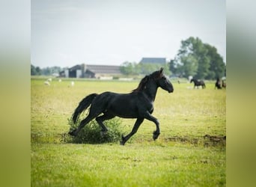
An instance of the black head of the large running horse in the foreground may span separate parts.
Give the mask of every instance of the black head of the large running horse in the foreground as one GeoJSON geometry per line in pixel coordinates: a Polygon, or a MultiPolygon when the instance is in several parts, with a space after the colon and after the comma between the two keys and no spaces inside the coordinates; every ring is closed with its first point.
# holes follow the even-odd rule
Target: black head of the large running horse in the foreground
{"type": "Polygon", "coordinates": [[[162,70],[163,68],[161,67],[159,71],[154,73],[156,84],[163,90],[168,91],[168,93],[174,92],[174,88],[171,85],[171,82],[165,77],[165,75],[162,73],[162,70]]]}

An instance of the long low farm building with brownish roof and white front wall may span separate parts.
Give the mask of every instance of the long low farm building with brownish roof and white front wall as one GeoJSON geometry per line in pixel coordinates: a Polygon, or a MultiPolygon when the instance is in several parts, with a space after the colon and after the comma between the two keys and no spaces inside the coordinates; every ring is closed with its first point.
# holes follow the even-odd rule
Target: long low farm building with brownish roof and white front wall
{"type": "Polygon", "coordinates": [[[121,75],[120,66],[80,64],[60,73],[67,78],[100,78],[121,75]]]}

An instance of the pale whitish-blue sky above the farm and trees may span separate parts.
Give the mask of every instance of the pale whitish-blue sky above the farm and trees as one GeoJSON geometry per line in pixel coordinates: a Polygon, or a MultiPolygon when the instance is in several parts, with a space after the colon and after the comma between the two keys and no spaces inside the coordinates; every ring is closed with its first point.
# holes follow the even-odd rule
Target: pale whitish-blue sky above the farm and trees
{"type": "Polygon", "coordinates": [[[177,55],[199,37],[226,61],[224,0],[32,0],[31,64],[121,65],[177,55]]]}

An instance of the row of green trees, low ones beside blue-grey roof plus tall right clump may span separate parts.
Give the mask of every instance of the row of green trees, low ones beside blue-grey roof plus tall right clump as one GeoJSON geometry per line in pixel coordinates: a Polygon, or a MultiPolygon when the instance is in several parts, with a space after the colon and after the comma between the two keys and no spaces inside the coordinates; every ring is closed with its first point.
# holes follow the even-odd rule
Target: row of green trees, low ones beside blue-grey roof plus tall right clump
{"type": "MultiPolygon", "coordinates": [[[[161,64],[141,64],[124,62],[121,72],[126,75],[149,74],[159,69],[161,64]]],[[[195,79],[217,79],[226,76],[226,65],[216,47],[203,43],[198,37],[181,41],[180,49],[165,64],[165,74],[195,79]]]]}

